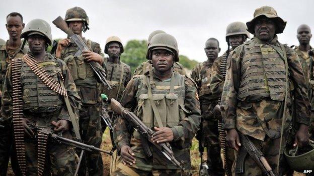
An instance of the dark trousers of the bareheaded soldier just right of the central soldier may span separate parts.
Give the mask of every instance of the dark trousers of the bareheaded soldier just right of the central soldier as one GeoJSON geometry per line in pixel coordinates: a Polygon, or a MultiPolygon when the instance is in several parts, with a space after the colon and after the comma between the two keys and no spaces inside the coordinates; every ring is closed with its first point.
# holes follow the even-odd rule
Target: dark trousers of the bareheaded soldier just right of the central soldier
{"type": "Polygon", "coordinates": [[[213,175],[224,175],[222,159],[220,155],[218,121],[209,116],[216,104],[201,104],[203,120],[202,146],[207,149],[208,173],[213,175]]]}

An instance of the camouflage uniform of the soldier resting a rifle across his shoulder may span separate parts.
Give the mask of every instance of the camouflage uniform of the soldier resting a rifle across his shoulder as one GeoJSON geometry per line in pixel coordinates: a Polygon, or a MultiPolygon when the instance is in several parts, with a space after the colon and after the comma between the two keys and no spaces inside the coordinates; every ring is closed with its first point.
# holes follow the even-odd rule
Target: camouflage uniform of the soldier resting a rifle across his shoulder
{"type": "MultiPolygon", "coordinates": [[[[91,51],[102,54],[98,43],[85,38],[83,38],[83,41],[91,51]]],[[[62,50],[60,59],[68,66],[78,95],[82,99],[82,108],[78,111],[82,141],[100,148],[103,134],[100,121],[102,101],[100,83],[85,58],[82,55],[74,57],[77,50],[76,44],[70,43],[62,50]]],[[[81,163],[81,169],[87,167],[90,175],[103,174],[103,160],[99,151],[86,152],[84,157],[86,159],[81,163]],[[84,166],[85,164],[86,166],[84,166]]]]}

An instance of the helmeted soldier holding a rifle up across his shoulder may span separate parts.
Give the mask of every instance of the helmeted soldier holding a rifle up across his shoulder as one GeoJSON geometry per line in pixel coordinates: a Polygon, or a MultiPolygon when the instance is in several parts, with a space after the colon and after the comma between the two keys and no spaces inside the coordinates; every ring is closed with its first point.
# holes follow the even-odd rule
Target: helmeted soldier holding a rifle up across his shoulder
{"type": "MultiPolygon", "coordinates": [[[[102,65],[104,59],[101,56],[100,45],[82,36],[82,31],[86,32],[89,29],[89,18],[82,8],[68,9],[64,21],[91,50],[84,52],[81,56],[74,56],[78,50],[76,44],[70,42],[69,39],[62,39],[58,42],[56,57],[62,59],[69,67],[78,95],[82,99],[82,109],[78,112],[82,140],[88,145],[100,148],[103,134],[100,122],[101,92],[97,77],[88,62],[95,61],[102,65]]],[[[85,158],[83,161],[86,162],[82,163],[80,175],[85,175],[86,172],[89,175],[103,175],[103,160],[100,152],[86,152],[85,158]],[[83,170],[85,168],[87,170],[83,170]]]]}

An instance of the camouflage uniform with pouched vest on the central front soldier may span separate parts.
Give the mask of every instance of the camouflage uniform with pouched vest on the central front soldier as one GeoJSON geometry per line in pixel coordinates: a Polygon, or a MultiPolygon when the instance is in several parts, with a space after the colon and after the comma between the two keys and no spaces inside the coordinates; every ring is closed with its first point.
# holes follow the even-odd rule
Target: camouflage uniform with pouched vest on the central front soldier
{"type": "MultiPolygon", "coordinates": [[[[151,108],[148,103],[147,97],[147,86],[144,83],[144,78],[149,82],[153,82],[152,94],[156,96],[155,101],[159,101],[161,104],[156,104],[159,110],[159,113],[163,117],[167,116],[167,119],[170,119],[170,115],[173,118],[180,119],[177,120],[167,120],[163,121],[164,126],[168,126],[172,129],[174,133],[174,141],[171,142],[174,155],[177,160],[183,160],[183,166],[187,170],[191,168],[190,161],[190,147],[192,145],[192,139],[197,130],[197,127],[200,122],[200,107],[198,102],[198,96],[196,91],[196,85],[190,78],[184,77],[178,73],[173,72],[171,81],[174,81],[174,93],[178,95],[178,100],[174,101],[174,106],[172,110],[177,115],[168,114],[171,110],[165,110],[162,103],[165,100],[169,101],[171,99],[169,94],[170,82],[163,82],[158,77],[153,74],[153,78],[149,77],[149,74],[146,73],[142,76],[134,76],[128,85],[125,88],[125,91],[122,96],[121,104],[122,106],[131,109],[134,113],[143,120],[144,124],[148,127],[159,126],[157,122],[148,118],[152,114],[146,114],[147,111],[145,107],[151,108]],[[164,95],[159,96],[157,95],[164,95]],[[167,99],[169,98],[169,99],[167,99]],[[147,105],[145,106],[144,104],[147,105]],[[179,105],[180,104],[180,105],[179,105]],[[177,110],[177,112],[175,112],[177,110]],[[179,112],[178,112],[179,111],[179,112]],[[178,114],[179,113],[179,114],[178,114]],[[149,120],[150,119],[150,120],[149,120]],[[179,123],[178,123],[179,122],[179,123]]],[[[146,108],[146,109],[147,109],[146,108]]],[[[151,111],[150,111],[151,112],[151,111]]],[[[117,144],[117,151],[120,152],[120,149],[124,145],[129,145],[136,158],[136,163],[133,165],[127,165],[132,168],[134,171],[140,175],[148,175],[153,173],[154,175],[180,175],[180,170],[171,163],[159,150],[152,147],[152,158],[147,158],[142,147],[142,142],[137,131],[128,129],[128,122],[123,118],[117,118],[114,122],[114,138],[115,143],[117,144]],[[157,174],[157,172],[159,174],[157,174]]],[[[188,172],[188,171],[187,171],[188,172]]],[[[188,173],[183,173],[184,175],[188,173]]],[[[121,169],[118,169],[114,172],[113,175],[127,175],[121,169]]]]}

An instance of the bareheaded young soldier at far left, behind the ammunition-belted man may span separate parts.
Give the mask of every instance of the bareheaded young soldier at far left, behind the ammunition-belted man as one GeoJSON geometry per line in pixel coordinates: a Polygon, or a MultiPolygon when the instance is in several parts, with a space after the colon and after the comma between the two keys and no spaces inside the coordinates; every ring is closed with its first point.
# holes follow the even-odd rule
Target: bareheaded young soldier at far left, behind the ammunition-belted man
{"type": "MultiPolygon", "coordinates": [[[[25,24],[23,23],[21,14],[13,12],[7,16],[6,27],[9,34],[9,40],[0,46],[0,100],[8,64],[14,58],[21,58],[28,51],[27,46],[22,48],[22,41],[20,38],[24,26],[25,24]]],[[[12,144],[12,131],[8,121],[1,117],[0,124],[5,126],[4,128],[0,128],[0,175],[7,175],[10,148],[12,144]]]]}

